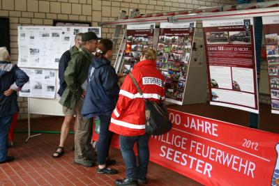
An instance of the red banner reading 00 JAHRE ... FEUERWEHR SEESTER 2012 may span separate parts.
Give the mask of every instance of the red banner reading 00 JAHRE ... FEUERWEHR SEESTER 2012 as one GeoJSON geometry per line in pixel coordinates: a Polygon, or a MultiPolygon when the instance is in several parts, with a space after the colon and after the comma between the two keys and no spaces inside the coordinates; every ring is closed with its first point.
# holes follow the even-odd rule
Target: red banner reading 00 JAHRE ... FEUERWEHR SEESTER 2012
{"type": "MultiPolygon", "coordinates": [[[[279,171],[275,169],[279,134],[172,109],[169,118],[172,130],[151,137],[152,162],[204,185],[279,183],[279,171]]],[[[119,148],[117,139],[114,146],[119,148]]]]}

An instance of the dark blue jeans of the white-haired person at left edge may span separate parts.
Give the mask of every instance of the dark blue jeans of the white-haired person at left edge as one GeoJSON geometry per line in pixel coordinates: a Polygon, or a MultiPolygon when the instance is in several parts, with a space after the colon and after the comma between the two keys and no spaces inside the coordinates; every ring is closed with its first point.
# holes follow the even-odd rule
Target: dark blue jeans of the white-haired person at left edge
{"type": "Polygon", "coordinates": [[[13,121],[13,114],[0,117],[0,162],[7,159],[8,155],[8,130],[13,121]]]}

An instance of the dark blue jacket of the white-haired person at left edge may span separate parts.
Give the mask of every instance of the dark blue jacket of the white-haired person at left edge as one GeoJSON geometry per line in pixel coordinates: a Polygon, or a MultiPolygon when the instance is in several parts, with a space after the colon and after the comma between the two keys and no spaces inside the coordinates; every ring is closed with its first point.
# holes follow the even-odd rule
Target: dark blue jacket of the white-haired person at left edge
{"type": "Polygon", "coordinates": [[[17,91],[29,81],[25,72],[20,70],[17,65],[8,61],[0,61],[0,117],[15,114],[19,111],[17,105],[17,91]],[[3,95],[4,91],[12,88],[14,92],[3,95]]]}

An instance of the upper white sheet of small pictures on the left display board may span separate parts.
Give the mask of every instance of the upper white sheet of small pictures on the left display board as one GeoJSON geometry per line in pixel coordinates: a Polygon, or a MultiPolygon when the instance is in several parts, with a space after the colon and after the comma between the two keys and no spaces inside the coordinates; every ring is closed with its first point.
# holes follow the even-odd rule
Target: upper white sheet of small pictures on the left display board
{"type": "Polygon", "coordinates": [[[62,54],[70,49],[70,28],[18,26],[18,66],[58,69],[62,54]]]}

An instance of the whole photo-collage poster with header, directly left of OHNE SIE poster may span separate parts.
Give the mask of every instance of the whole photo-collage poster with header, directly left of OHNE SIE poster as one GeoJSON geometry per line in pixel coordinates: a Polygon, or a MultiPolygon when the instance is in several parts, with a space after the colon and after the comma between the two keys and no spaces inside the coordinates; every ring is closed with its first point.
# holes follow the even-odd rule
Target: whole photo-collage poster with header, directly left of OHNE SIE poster
{"type": "Polygon", "coordinates": [[[195,22],[160,24],[156,65],[166,79],[165,98],[168,102],[183,104],[195,24],[195,22]]]}

